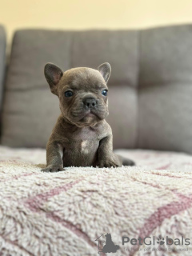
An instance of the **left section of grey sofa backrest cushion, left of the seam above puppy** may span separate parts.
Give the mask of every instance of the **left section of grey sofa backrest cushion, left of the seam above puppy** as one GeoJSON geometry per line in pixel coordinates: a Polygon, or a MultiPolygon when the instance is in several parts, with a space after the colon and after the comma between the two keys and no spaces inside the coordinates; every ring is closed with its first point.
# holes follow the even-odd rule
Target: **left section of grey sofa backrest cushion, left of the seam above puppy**
{"type": "Polygon", "coordinates": [[[70,68],[72,33],[21,30],[14,35],[3,108],[2,144],[45,147],[60,113],[44,77],[46,62],[70,68]]]}

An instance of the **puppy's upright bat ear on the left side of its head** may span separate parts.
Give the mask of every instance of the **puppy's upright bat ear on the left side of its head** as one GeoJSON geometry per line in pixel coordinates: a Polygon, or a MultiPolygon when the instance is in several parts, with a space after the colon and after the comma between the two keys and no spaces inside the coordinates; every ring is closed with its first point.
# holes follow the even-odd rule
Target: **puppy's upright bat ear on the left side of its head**
{"type": "Polygon", "coordinates": [[[50,85],[51,92],[58,95],[58,82],[62,78],[62,70],[52,63],[47,63],[44,68],[44,74],[46,81],[50,85]]]}

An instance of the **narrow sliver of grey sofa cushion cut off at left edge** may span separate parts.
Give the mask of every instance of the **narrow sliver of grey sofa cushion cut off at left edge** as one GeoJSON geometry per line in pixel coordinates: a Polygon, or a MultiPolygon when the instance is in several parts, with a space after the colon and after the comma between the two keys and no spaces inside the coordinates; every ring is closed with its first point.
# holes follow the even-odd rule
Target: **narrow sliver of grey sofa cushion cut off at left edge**
{"type": "Polygon", "coordinates": [[[6,70],[6,32],[3,26],[0,26],[0,123],[2,115],[2,93],[6,70]]]}

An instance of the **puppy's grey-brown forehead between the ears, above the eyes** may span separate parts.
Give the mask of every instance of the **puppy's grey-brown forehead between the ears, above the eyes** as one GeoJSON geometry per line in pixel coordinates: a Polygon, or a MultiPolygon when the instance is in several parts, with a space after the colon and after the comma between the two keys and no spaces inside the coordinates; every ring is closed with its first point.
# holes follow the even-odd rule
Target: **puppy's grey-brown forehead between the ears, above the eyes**
{"type": "Polygon", "coordinates": [[[61,86],[70,86],[71,89],[90,90],[106,87],[106,82],[98,70],[80,67],[67,70],[61,79],[61,86]]]}

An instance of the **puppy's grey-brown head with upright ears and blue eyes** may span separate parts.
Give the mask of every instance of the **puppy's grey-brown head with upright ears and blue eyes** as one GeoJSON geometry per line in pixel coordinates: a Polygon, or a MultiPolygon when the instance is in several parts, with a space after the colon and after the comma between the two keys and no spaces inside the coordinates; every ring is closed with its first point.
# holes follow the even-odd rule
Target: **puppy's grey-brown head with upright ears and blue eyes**
{"type": "Polygon", "coordinates": [[[46,81],[59,98],[64,118],[78,127],[94,126],[106,118],[110,71],[109,63],[98,66],[98,70],[79,67],[64,73],[58,66],[46,64],[46,81]]]}

